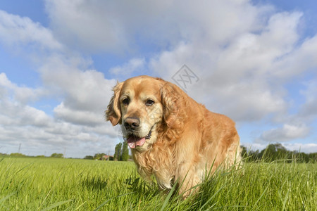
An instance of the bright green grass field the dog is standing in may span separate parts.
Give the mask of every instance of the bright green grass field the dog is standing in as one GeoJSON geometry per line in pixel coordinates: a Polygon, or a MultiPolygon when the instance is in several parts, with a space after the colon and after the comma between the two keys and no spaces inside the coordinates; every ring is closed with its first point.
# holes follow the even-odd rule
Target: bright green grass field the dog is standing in
{"type": "Polygon", "coordinates": [[[133,162],[0,158],[0,210],[316,210],[317,164],[247,163],[180,200],[133,162]]]}

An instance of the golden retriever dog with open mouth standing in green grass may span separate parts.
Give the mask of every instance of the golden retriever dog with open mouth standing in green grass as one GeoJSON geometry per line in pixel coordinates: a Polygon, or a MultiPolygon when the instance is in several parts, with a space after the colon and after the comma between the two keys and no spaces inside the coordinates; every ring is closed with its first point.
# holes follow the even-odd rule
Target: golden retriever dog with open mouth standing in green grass
{"type": "Polygon", "coordinates": [[[106,120],[120,124],[139,174],[188,196],[209,170],[240,162],[235,122],[212,113],[175,84],[132,77],[113,88],[106,120]]]}

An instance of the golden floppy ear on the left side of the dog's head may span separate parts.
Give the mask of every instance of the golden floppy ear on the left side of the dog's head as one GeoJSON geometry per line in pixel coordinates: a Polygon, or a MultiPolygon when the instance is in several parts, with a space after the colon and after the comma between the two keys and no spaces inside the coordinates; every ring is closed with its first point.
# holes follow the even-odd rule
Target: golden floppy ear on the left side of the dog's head
{"type": "Polygon", "coordinates": [[[121,110],[120,110],[120,91],[123,86],[123,82],[120,82],[113,87],[113,96],[108,105],[108,109],[106,110],[106,120],[110,121],[113,126],[120,123],[121,124],[121,110]]]}

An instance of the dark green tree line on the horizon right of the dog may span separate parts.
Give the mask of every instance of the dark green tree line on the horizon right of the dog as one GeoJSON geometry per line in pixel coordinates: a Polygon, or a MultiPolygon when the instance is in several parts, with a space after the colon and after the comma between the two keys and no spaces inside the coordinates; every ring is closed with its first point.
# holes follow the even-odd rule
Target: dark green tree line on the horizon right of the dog
{"type": "Polygon", "coordinates": [[[300,153],[298,151],[287,151],[287,149],[280,143],[269,144],[262,151],[248,151],[242,146],[242,157],[244,161],[264,161],[272,162],[275,160],[285,162],[317,162],[317,153],[300,153]]]}

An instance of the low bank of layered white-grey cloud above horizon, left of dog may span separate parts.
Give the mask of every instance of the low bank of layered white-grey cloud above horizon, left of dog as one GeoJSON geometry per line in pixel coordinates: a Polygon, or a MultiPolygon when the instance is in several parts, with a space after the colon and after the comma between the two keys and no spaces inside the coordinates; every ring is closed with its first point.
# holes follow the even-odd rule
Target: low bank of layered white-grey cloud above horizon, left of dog
{"type": "MultiPolygon", "coordinates": [[[[99,151],[111,152],[118,141],[111,124],[104,123],[101,114],[77,111],[57,106],[56,117],[27,106],[15,98],[16,90],[4,73],[0,75],[0,141],[1,151],[51,155],[66,151],[68,157],[82,157],[99,151]],[[14,147],[12,149],[12,147],[14,147]],[[25,150],[24,150],[25,149],[25,150]]],[[[107,99],[108,100],[108,99],[107,99]]],[[[105,101],[107,101],[105,100],[105,101]]]]}

